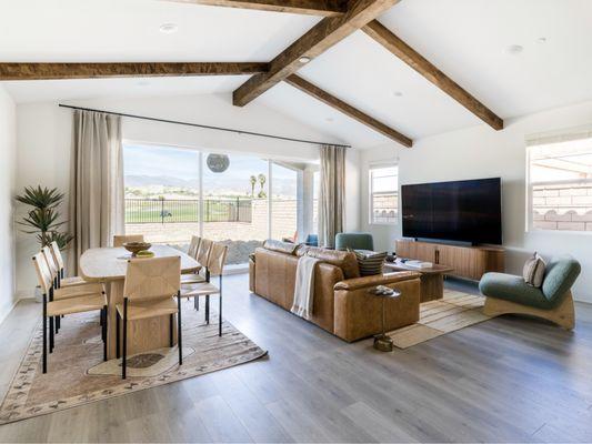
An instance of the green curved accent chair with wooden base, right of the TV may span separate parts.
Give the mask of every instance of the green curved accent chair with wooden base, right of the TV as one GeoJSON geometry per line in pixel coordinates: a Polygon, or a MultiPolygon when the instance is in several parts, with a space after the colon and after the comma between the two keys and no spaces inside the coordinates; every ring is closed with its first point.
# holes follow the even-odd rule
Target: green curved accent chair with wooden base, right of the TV
{"type": "Polygon", "coordinates": [[[575,325],[571,287],[581,270],[571,256],[554,258],[546,265],[540,289],[526,284],[522,276],[485,273],[479,282],[479,290],[486,296],[483,313],[529,314],[571,330],[575,325]]]}

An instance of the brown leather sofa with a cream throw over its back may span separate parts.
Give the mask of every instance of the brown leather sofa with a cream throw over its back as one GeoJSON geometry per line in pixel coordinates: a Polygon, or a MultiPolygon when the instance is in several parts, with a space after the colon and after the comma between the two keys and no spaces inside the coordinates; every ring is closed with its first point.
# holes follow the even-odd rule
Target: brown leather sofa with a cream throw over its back
{"type": "Polygon", "coordinates": [[[303,254],[320,259],[315,268],[312,323],[348,342],[381,331],[382,300],[369,294],[377,285],[402,292],[385,301],[387,331],[419,320],[420,274],[398,272],[360,278],[355,254],[268,241],[249,261],[251,292],[285,310],[292,307],[298,260],[303,254]]]}

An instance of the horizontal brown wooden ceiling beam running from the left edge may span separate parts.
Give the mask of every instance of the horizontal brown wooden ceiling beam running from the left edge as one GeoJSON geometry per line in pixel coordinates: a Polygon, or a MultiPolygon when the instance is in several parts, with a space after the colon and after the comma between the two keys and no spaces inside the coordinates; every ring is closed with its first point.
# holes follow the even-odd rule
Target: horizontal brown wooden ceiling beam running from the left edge
{"type": "Polygon", "coordinates": [[[124,77],[238,75],[267,72],[268,63],[0,63],[2,80],[97,79],[124,77]]]}

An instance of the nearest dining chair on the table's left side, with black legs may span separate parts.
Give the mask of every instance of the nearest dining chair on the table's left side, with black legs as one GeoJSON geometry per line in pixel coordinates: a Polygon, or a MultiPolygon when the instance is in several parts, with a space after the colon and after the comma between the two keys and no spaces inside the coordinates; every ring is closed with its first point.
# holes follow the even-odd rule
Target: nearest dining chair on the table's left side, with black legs
{"type": "Polygon", "coordinates": [[[70,289],[54,289],[53,276],[42,252],[33,256],[39,286],[43,292],[43,373],[48,372],[48,319],[49,352],[54,347],[54,321],[66,314],[99,311],[101,314],[101,336],[103,340],[103,360],[107,361],[107,296],[102,284],[93,284],[93,293],[80,294],[70,289]]]}

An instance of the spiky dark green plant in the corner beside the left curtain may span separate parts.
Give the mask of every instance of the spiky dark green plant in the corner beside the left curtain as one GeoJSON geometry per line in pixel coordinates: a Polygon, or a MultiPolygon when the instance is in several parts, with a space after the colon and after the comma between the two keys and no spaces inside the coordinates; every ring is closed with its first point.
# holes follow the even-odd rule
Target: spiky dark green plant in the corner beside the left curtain
{"type": "MultiPolygon", "coordinates": [[[[73,236],[62,232],[59,229],[66,223],[60,221],[60,213],[57,208],[63,201],[63,193],[58,189],[47,189],[41,186],[27,186],[24,193],[17,195],[17,201],[32,206],[27,215],[18,223],[22,231],[28,234],[34,234],[39,242],[40,249],[56,241],[60,250],[64,250],[73,236]]],[[[36,290],[36,297],[40,300],[40,290],[36,290]]]]}

